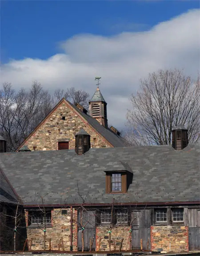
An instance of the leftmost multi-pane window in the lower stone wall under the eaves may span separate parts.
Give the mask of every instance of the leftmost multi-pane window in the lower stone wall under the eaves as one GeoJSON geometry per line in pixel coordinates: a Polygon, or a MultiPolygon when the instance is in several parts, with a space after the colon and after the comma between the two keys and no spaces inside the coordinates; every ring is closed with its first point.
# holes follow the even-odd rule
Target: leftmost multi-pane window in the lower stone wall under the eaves
{"type": "Polygon", "coordinates": [[[46,212],[45,215],[40,211],[29,212],[28,216],[30,224],[51,224],[51,211],[46,212]]]}

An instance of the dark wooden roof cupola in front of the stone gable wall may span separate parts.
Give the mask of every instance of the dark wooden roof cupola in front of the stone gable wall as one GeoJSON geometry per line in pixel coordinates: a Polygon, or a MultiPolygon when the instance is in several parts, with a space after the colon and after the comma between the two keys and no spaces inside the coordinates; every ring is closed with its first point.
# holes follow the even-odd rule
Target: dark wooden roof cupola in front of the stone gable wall
{"type": "Polygon", "coordinates": [[[90,135],[84,129],[80,129],[75,135],[75,152],[77,155],[83,155],[90,149],[90,135]]]}

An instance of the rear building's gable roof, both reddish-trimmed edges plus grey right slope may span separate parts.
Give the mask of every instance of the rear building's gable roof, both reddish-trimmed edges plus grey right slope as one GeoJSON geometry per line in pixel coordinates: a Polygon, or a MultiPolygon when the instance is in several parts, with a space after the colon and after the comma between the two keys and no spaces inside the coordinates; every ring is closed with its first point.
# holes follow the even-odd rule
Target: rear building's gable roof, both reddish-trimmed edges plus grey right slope
{"type": "Polygon", "coordinates": [[[85,121],[88,122],[88,124],[96,130],[100,134],[100,136],[103,136],[105,140],[108,141],[109,144],[113,147],[124,147],[126,145],[126,142],[123,138],[120,136],[116,135],[114,132],[112,132],[109,128],[105,128],[103,125],[101,125],[96,119],[94,119],[92,116],[88,115],[87,113],[82,112],[79,108],[77,108],[74,104],[69,102],[66,99],[60,100],[60,102],[52,109],[52,111],[38,124],[38,126],[28,135],[28,137],[20,144],[18,148],[16,148],[15,151],[18,151],[24,143],[34,134],[34,132],[37,131],[37,129],[45,122],[45,120],[48,119],[49,116],[62,104],[65,102],[71,108],[80,116],[82,117],[85,121]]]}

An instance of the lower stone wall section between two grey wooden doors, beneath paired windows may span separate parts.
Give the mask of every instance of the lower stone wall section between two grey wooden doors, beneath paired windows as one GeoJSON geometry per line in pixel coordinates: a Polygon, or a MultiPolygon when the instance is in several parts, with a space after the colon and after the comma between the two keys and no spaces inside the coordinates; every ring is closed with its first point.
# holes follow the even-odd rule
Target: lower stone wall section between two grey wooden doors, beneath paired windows
{"type": "MultiPolygon", "coordinates": [[[[111,232],[111,250],[114,250],[114,242],[116,244],[116,250],[119,250],[120,244],[123,240],[122,251],[131,248],[131,236],[129,232],[129,227],[116,227],[112,228],[111,232]],[[128,243],[128,245],[127,245],[128,243]]],[[[99,251],[109,251],[109,233],[110,228],[108,227],[97,227],[96,228],[96,248],[99,248],[99,251]],[[101,237],[101,241],[100,241],[101,237]],[[99,246],[100,241],[100,246],[99,246]]]]}

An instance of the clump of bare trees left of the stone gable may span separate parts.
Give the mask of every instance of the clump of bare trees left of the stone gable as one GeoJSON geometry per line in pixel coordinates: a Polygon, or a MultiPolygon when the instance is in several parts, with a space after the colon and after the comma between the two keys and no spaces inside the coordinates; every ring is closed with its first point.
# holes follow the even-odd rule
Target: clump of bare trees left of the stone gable
{"type": "Polygon", "coordinates": [[[0,89],[0,134],[7,150],[14,151],[53,108],[52,97],[34,81],[29,91],[15,92],[4,83],[0,89]]]}

